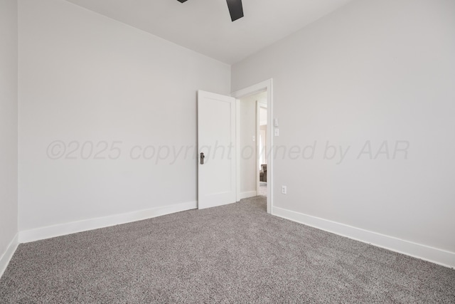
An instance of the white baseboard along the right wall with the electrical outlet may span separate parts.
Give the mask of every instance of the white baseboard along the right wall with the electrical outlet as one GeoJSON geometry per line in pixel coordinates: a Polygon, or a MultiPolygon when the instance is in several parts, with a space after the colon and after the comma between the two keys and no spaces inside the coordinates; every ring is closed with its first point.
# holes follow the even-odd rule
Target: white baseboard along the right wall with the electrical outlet
{"type": "Polygon", "coordinates": [[[373,231],[359,229],[353,226],[337,223],[335,221],[328,221],[316,216],[309,216],[279,207],[273,207],[272,214],[284,219],[296,221],[300,224],[305,224],[307,226],[312,226],[317,229],[328,231],[333,234],[346,236],[349,239],[361,241],[363,243],[370,243],[371,245],[385,248],[390,251],[403,253],[407,256],[412,256],[414,258],[420,258],[425,261],[437,263],[441,266],[446,266],[449,268],[455,267],[454,252],[444,251],[442,249],[433,248],[419,243],[397,239],[392,236],[385,236],[384,234],[378,234],[373,231]]]}

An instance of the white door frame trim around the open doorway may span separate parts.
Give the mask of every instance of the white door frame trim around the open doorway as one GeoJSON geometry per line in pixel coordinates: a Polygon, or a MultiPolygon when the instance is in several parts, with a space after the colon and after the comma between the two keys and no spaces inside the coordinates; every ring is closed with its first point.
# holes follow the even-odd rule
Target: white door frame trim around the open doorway
{"type": "MultiPolygon", "coordinates": [[[[240,98],[245,98],[250,95],[254,95],[259,92],[267,91],[267,126],[270,129],[270,132],[267,132],[267,213],[272,214],[273,206],[273,79],[264,80],[255,85],[250,85],[247,88],[242,90],[237,90],[232,92],[230,95],[237,99],[237,115],[235,115],[236,127],[236,137],[237,137],[237,155],[240,155],[240,98]]],[[[257,138],[256,138],[257,140],[257,138]]],[[[240,197],[240,161],[237,158],[237,201],[240,197]]]]}

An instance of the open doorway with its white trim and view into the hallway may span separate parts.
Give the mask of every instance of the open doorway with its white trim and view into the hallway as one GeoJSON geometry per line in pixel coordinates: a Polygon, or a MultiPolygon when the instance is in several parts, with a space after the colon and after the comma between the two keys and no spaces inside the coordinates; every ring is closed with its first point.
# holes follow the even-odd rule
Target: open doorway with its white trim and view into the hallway
{"type": "Polygon", "coordinates": [[[231,94],[237,99],[237,201],[267,196],[273,206],[272,79],[231,94]]]}

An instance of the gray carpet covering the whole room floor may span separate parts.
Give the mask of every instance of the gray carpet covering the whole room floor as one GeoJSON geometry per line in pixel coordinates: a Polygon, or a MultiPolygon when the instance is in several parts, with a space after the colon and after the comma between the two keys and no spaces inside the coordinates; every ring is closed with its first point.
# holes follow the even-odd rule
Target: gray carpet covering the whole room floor
{"type": "Polygon", "coordinates": [[[0,303],[454,303],[455,271],[270,216],[265,197],[18,246],[0,303]]]}

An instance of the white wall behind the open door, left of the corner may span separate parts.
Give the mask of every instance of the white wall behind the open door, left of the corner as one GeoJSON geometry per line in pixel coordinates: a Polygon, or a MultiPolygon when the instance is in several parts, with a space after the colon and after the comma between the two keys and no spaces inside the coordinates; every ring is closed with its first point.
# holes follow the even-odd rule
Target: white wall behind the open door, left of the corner
{"type": "Polygon", "coordinates": [[[21,0],[19,230],[195,202],[198,89],[228,94],[230,66],[66,1],[21,0]]]}

